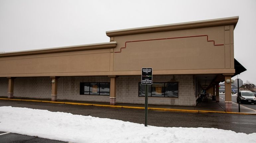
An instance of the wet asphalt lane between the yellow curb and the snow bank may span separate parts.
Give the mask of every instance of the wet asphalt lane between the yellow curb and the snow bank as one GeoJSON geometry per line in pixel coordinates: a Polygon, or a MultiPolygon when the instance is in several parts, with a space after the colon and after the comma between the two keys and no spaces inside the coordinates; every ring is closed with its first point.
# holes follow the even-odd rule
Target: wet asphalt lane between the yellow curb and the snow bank
{"type": "MultiPolygon", "coordinates": [[[[145,123],[144,109],[8,100],[0,100],[0,106],[46,109],[55,112],[60,111],[100,118],[118,119],[140,124],[145,123]]],[[[232,130],[235,132],[254,133],[256,128],[256,115],[148,110],[148,125],[163,127],[207,127],[232,130]]]]}

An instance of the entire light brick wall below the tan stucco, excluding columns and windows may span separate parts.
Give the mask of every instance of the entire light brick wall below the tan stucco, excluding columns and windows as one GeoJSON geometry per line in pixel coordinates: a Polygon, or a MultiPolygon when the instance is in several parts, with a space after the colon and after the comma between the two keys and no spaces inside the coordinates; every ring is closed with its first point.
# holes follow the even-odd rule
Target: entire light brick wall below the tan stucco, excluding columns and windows
{"type": "MultiPolygon", "coordinates": [[[[194,106],[195,86],[193,75],[154,75],[153,82],[178,82],[179,98],[149,97],[149,104],[194,106]]],[[[1,78],[1,96],[7,96],[8,79],[1,78]]],[[[116,103],[144,104],[138,96],[141,76],[118,76],[116,103]]],[[[79,95],[80,82],[110,82],[107,76],[68,76],[58,80],[58,100],[110,102],[109,96],[79,95]]],[[[51,98],[50,77],[18,77],[14,81],[14,97],[51,98]]]]}

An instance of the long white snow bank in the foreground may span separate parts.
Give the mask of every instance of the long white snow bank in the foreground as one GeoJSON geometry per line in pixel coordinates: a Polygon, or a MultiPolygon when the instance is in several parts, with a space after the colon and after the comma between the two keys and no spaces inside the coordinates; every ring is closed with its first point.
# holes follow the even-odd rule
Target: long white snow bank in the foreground
{"type": "Polygon", "coordinates": [[[74,143],[256,143],[256,133],[143,124],[48,110],[0,107],[0,131],[74,143]]]}

